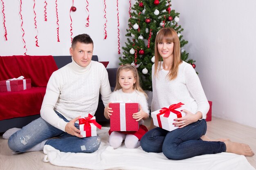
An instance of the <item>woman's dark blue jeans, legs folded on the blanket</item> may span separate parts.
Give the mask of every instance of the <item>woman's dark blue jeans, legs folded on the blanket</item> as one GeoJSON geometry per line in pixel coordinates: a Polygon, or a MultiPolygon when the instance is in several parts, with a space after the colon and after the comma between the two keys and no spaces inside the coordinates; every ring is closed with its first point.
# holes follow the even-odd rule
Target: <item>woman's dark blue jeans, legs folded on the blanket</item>
{"type": "Polygon", "coordinates": [[[206,130],[205,119],[171,132],[157,127],[148,131],[141,138],[140,144],[146,152],[163,152],[168,159],[175,160],[225,152],[224,142],[200,139],[202,135],[205,135],[206,130]]]}

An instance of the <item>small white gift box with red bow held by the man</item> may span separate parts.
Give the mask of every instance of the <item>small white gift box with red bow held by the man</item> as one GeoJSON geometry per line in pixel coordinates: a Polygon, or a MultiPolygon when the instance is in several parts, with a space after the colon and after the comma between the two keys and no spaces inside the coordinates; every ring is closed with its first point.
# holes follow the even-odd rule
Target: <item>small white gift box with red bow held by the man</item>
{"type": "Polygon", "coordinates": [[[101,129],[101,125],[96,122],[95,116],[90,113],[88,117],[79,118],[80,135],[83,137],[97,136],[97,128],[101,129]]]}

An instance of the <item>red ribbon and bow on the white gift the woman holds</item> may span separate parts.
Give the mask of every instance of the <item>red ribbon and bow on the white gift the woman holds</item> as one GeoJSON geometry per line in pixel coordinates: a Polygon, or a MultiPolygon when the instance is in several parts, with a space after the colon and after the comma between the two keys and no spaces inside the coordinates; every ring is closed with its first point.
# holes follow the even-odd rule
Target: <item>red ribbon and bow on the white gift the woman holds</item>
{"type": "Polygon", "coordinates": [[[169,106],[169,108],[161,108],[162,110],[160,110],[157,114],[157,122],[159,125],[159,128],[162,128],[162,123],[161,123],[161,119],[160,119],[160,115],[164,114],[164,117],[169,117],[170,113],[175,113],[177,115],[177,118],[182,117],[182,114],[175,110],[176,108],[180,108],[182,105],[184,105],[183,103],[177,103],[177,104],[172,104],[171,106],[169,106]]]}

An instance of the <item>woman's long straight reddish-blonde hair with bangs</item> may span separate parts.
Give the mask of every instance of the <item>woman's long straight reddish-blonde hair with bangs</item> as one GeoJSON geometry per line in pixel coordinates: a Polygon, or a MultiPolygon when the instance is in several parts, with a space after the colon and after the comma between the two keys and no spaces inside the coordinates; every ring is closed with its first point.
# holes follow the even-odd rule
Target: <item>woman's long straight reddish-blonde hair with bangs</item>
{"type": "Polygon", "coordinates": [[[171,70],[169,71],[167,77],[170,80],[173,80],[177,77],[179,65],[182,63],[180,59],[180,40],[176,33],[176,31],[172,28],[162,28],[157,33],[155,38],[155,75],[159,71],[158,62],[161,61],[161,55],[159,54],[157,44],[159,42],[173,42],[173,65],[171,66],[171,70]]]}

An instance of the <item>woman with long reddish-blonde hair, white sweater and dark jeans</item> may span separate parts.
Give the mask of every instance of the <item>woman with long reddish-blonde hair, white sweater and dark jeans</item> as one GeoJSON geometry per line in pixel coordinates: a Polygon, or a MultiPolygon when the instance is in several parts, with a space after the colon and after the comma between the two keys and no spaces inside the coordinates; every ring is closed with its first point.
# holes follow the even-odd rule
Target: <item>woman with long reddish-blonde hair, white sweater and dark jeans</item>
{"type": "Polygon", "coordinates": [[[231,152],[253,156],[247,144],[229,140],[207,141],[205,121],[209,104],[193,67],[180,59],[180,40],[174,29],[163,28],[155,38],[155,64],[152,66],[153,101],[151,111],[182,102],[186,116],[173,123],[179,128],[169,132],[153,128],[141,138],[146,152],[163,152],[168,159],[231,152]],[[162,61],[161,61],[162,57],[162,61]]]}

